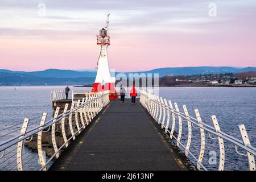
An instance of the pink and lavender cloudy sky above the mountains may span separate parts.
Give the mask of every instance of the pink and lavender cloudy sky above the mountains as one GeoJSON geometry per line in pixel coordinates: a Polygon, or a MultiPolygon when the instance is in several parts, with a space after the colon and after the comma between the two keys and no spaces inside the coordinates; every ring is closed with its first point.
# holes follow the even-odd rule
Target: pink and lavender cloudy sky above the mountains
{"type": "Polygon", "coordinates": [[[256,67],[255,0],[0,0],[0,69],[94,70],[108,13],[115,71],[256,67]]]}

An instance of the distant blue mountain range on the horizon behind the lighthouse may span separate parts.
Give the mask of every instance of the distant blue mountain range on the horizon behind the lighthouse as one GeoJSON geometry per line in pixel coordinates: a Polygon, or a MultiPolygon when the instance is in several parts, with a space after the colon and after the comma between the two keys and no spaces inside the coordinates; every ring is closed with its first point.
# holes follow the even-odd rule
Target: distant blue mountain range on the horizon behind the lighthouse
{"type": "MultiPolygon", "coordinates": [[[[158,68],[150,71],[136,73],[159,73],[166,75],[204,75],[221,73],[239,73],[256,71],[254,67],[181,67],[158,68]]],[[[46,69],[44,71],[24,72],[0,69],[0,85],[85,85],[92,84],[96,77],[96,71],[73,71],[63,69],[46,69]]],[[[135,73],[135,72],[131,72],[135,73]]],[[[117,74],[117,73],[116,73],[117,74]]],[[[126,75],[128,73],[125,73],[126,75]]]]}

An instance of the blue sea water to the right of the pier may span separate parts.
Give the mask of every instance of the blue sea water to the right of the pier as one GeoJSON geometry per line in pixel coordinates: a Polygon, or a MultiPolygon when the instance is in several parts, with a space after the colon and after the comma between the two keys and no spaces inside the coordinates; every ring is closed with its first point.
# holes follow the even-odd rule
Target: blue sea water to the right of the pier
{"type": "MultiPolygon", "coordinates": [[[[216,115],[221,131],[241,139],[238,125],[245,124],[252,146],[256,146],[256,88],[160,88],[159,95],[177,102],[179,109],[186,105],[189,115],[195,117],[195,109],[199,109],[203,122],[213,126],[211,115],[216,115]]],[[[176,124],[176,131],[178,127],[176,124]]],[[[184,122],[181,141],[187,142],[187,131],[184,122]]],[[[205,155],[203,164],[208,168],[217,169],[217,164],[209,164],[209,152],[216,151],[218,156],[218,141],[212,140],[205,133],[205,155]]],[[[225,143],[225,169],[247,170],[247,158],[236,154],[233,144],[225,143]]],[[[200,151],[200,130],[192,129],[191,150],[198,157],[200,151]]],[[[238,149],[239,150],[239,149],[238,149]]],[[[245,151],[240,150],[243,154],[245,151]]]]}

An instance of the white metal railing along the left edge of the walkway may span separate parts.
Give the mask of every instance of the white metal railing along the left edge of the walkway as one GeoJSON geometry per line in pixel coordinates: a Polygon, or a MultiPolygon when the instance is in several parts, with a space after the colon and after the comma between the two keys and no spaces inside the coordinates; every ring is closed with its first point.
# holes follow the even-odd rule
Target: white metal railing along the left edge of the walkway
{"type": "MultiPolygon", "coordinates": [[[[17,155],[17,158],[16,158],[17,164],[16,164],[16,166],[18,167],[18,170],[23,170],[23,164],[22,164],[23,142],[31,142],[33,136],[38,134],[38,139],[37,139],[38,147],[39,147],[38,148],[38,155],[39,155],[39,159],[40,159],[42,169],[46,169],[46,165],[54,158],[54,156],[56,158],[59,156],[59,151],[61,150],[61,148],[63,148],[64,146],[67,147],[68,142],[72,138],[75,139],[75,135],[77,135],[77,133],[80,134],[81,130],[85,129],[85,125],[89,125],[89,122],[91,122],[92,119],[98,114],[98,112],[104,106],[106,106],[108,103],[109,103],[109,91],[90,94],[90,97],[83,98],[81,104],[80,104],[80,101],[77,102],[76,107],[74,107],[75,102],[72,102],[71,109],[69,109],[69,110],[68,110],[68,104],[66,104],[64,112],[61,113],[61,114],[59,114],[60,107],[57,107],[56,111],[55,111],[55,116],[52,119],[49,119],[48,121],[45,121],[46,117],[47,117],[47,113],[44,113],[43,117],[42,117],[42,120],[41,120],[41,123],[40,123],[40,126],[33,127],[30,130],[27,130],[29,119],[25,118],[20,134],[18,134],[15,137],[10,138],[10,139],[0,143],[1,158],[5,155],[5,150],[14,146],[15,144],[18,144],[16,154],[14,154],[14,155],[17,155]],[[72,136],[69,139],[67,139],[65,137],[66,134],[65,134],[65,124],[64,124],[64,122],[65,122],[65,118],[69,116],[69,129],[73,131],[73,129],[71,128],[72,127],[72,122],[74,121],[73,118],[71,117],[73,113],[76,114],[76,116],[77,116],[77,113],[80,113],[80,115],[84,114],[84,115],[81,115],[81,118],[80,118],[80,122],[82,123],[82,127],[80,127],[75,133],[71,132],[72,136]],[[88,120],[88,118],[89,118],[89,120],[88,120]],[[86,120],[85,123],[84,123],[84,119],[86,120]],[[57,123],[61,123],[61,130],[62,130],[61,132],[63,134],[62,137],[64,139],[64,144],[60,148],[58,148],[56,146],[56,141],[55,141],[55,125],[57,123]],[[53,157],[50,158],[48,160],[47,164],[46,164],[46,163],[44,163],[44,159],[43,159],[43,156],[42,156],[42,141],[41,141],[41,138],[42,138],[42,133],[44,132],[44,130],[50,129],[50,128],[52,128],[52,133],[51,133],[52,134],[52,144],[53,144],[53,149],[55,150],[55,153],[53,154],[53,157]],[[29,140],[28,140],[28,138],[29,138],[29,140]]],[[[76,122],[78,122],[78,121],[76,120],[76,122]]],[[[14,151],[14,150],[12,150],[12,151],[14,151]]],[[[10,152],[8,152],[7,154],[10,154],[10,152]]],[[[11,163],[13,163],[13,162],[11,162],[11,163]]],[[[12,167],[11,169],[13,169],[14,167],[12,167]]]]}

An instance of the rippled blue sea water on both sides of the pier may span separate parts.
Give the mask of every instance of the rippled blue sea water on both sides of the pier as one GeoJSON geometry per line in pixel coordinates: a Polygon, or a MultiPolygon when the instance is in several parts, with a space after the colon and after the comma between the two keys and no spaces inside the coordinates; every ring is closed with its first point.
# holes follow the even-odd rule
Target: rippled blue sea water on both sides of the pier
{"type": "MultiPolygon", "coordinates": [[[[6,133],[13,131],[16,135],[20,131],[24,118],[31,119],[31,126],[38,126],[43,112],[52,114],[51,90],[64,89],[65,86],[2,86],[0,87],[0,142],[7,139],[6,133]],[[10,126],[14,126],[8,129],[10,126]]],[[[88,91],[90,88],[72,88],[76,92],[88,91]]],[[[238,125],[245,124],[251,145],[256,146],[256,88],[207,88],[207,87],[183,87],[183,88],[159,88],[159,96],[177,102],[182,110],[186,105],[189,114],[195,117],[195,109],[199,109],[203,122],[213,126],[211,115],[216,115],[220,128],[225,133],[241,139],[238,125]]],[[[178,131],[177,126],[175,130],[178,131]]],[[[187,142],[187,126],[184,122],[181,142],[187,142]]],[[[10,137],[10,135],[9,135],[10,137]]],[[[205,133],[205,154],[203,164],[209,169],[218,168],[218,141],[212,140],[205,133]],[[213,152],[213,153],[212,153],[213,152]],[[216,153],[215,158],[212,154],[216,153]],[[210,162],[209,162],[210,160],[210,162]]],[[[200,130],[192,129],[191,152],[196,156],[200,151],[200,130]]],[[[242,153],[243,150],[238,148],[242,153]]],[[[28,151],[29,152],[29,151],[28,151]]],[[[15,158],[14,158],[15,159],[15,158]]],[[[193,163],[195,160],[189,156],[193,163]]],[[[236,154],[233,144],[225,142],[225,169],[248,169],[247,158],[236,154]]],[[[1,169],[0,160],[0,169],[1,169]]]]}

